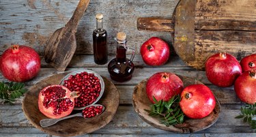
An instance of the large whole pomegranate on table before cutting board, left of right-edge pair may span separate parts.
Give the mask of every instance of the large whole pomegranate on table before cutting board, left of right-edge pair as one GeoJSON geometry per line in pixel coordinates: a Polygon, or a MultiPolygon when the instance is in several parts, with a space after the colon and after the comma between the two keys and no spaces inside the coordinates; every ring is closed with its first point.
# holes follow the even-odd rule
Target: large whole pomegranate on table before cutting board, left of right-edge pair
{"type": "Polygon", "coordinates": [[[242,68],[235,57],[221,52],[208,58],[205,62],[205,73],[212,84],[230,87],[242,74],[242,68]]]}

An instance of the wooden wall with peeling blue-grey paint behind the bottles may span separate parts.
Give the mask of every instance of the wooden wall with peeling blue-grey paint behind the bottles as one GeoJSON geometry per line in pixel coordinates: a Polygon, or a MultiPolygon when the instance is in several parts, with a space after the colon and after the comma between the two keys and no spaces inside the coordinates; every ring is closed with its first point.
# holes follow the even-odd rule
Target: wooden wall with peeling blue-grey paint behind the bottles
{"type": "MultiPolygon", "coordinates": [[[[128,35],[128,45],[137,50],[145,40],[161,37],[171,46],[167,32],[138,31],[137,18],[161,16],[171,18],[178,0],[91,0],[76,33],[76,55],[91,55],[92,31],[96,28],[96,13],[104,14],[109,54],[115,54],[115,37],[119,31],[128,35]]],[[[79,0],[1,0],[0,1],[0,55],[10,44],[25,44],[40,55],[48,37],[63,27],[72,16],[79,0]]],[[[172,48],[173,50],[173,48],[172,48]]]]}

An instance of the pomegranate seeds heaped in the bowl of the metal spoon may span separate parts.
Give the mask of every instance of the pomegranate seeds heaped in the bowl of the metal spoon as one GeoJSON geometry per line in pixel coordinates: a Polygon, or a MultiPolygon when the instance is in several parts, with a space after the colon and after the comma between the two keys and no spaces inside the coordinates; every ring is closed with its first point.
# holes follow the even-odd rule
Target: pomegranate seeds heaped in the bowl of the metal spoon
{"type": "Polygon", "coordinates": [[[83,110],[84,118],[91,118],[99,115],[102,112],[103,106],[90,106],[83,110]]]}

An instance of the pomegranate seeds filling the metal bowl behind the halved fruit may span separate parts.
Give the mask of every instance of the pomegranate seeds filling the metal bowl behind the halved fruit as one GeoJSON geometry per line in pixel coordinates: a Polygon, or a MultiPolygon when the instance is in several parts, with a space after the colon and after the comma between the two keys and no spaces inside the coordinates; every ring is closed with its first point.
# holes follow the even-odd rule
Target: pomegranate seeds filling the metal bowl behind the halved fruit
{"type": "Polygon", "coordinates": [[[80,96],[74,99],[74,107],[80,108],[96,101],[100,95],[100,79],[94,74],[81,72],[80,74],[70,75],[68,80],[64,80],[63,86],[70,91],[79,91],[80,96]]]}

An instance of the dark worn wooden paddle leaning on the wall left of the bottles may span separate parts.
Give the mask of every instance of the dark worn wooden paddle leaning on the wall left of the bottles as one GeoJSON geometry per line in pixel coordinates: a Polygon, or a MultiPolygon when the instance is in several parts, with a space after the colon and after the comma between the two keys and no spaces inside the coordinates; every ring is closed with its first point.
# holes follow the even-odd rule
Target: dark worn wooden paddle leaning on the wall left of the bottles
{"type": "Polygon", "coordinates": [[[44,50],[44,59],[58,71],[65,71],[76,51],[76,28],[90,0],[80,0],[72,18],[65,27],[57,29],[51,35],[44,50]]]}

